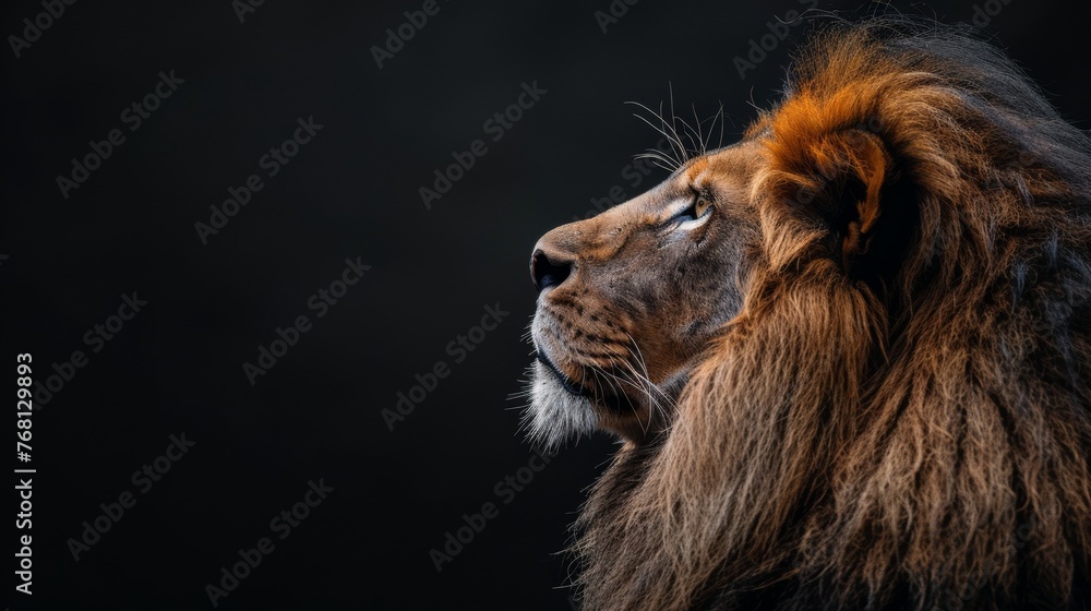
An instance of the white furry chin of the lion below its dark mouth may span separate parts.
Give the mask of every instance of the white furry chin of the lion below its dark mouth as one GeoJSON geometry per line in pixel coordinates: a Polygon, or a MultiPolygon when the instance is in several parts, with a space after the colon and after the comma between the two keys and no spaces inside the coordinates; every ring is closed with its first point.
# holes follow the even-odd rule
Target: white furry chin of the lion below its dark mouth
{"type": "Polygon", "coordinates": [[[570,438],[589,435],[598,427],[590,399],[566,390],[541,362],[535,362],[530,372],[530,406],[525,420],[528,436],[546,447],[560,446],[570,438]]]}

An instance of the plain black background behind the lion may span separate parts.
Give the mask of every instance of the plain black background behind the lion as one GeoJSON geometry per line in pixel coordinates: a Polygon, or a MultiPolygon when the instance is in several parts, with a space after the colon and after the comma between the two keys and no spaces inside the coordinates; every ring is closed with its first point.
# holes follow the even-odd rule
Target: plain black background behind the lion
{"type": "MultiPolygon", "coordinates": [[[[211,608],[206,584],[272,537],[276,549],[221,608],[568,609],[558,552],[613,441],[563,450],[509,504],[494,489],[531,456],[524,404],[511,398],[530,360],[531,245],[611,188],[633,196],[666,176],[623,177],[658,140],[625,101],[658,107],[673,89],[687,118],[722,101],[733,141],[751,103],[776,97],[810,25],[790,26],[744,79],[733,58],[812,3],[877,10],[642,0],[603,33],[594,13],[608,0],[441,0],[380,69],[372,46],[421,2],[266,0],[240,23],[227,0],[83,0],[20,58],[5,49],[5,384],[14,391],[20,352],[40,382],[73,350],[88,360],[33,417],[36,607],[211,608]],[[130,131],[121,111],[171,70],[184,83],[130,131]],[[484,121],[533,82],[547,93],[493,142],[484,121]],[[311,116],[322,130],[265,176],[259,158],[311,116]],[[115,128],[125,142],[63,197],[57,177],[115,128]],[[418,189],[479,139],[488,153],[427,209],[418,189]],[[194,224],[251,173],[265,187],[202,244],[194,224]],[[371,269],[315,319],[308,298],[346,257],[371,269]],[[84,334],[131,291],[148,304],[92,354],[84,334]],[[454,363],[448,342],[496,303],[511,314],[454,363]],[[301,314],[313,328],[251,386],[242,363],[301,314]],[[388,430],[382,410],[440,360],[449,376],[388,430]],[[140,493],[131,474],[182,432],[196,445],[140,493]],[[269,520],[320,478],[334,491],[279,539],[269,520]],[[136,504],[75,561],[69,539],[124,491],[136,504]],[[487,502],[499,516],[437,573],[429,550],[487,502]]],[[[1086,128],[1091,8],[986,4],[1000,10],[982,35],[1086,128]]],[[[895,5],[946,23],[975,11],[895,5]]],[[[21,36],[43,9],[21,0],[2,12],[3,34],[21,36]]]]}

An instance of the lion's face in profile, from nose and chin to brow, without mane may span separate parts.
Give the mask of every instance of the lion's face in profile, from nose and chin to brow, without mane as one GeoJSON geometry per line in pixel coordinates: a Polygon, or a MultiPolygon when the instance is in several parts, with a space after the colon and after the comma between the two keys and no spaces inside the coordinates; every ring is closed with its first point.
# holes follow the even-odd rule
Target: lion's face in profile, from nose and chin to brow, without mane
{"type": "Polygon", "coordinates": [[[759,240],[751,201],[758,146],[691,159],[647,193],[535,245],[528,418],[539,440],[602,429],[639,443],[670,424],[668,406],[742,301],[759,240]]]}

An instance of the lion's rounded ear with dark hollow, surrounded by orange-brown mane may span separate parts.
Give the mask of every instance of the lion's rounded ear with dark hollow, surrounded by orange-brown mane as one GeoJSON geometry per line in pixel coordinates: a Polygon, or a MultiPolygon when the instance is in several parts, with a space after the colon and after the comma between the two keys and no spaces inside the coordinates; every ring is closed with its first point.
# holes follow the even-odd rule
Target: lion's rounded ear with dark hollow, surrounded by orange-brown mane
{"type": "Polygon", "coordinates": [[[835,147],[841,176],[834,179],[840,189],[830,221],[841,238],[841,263],[851,269],[872,248],[892,164],[879,136],[864,130],[839,133],[835,147]]]}

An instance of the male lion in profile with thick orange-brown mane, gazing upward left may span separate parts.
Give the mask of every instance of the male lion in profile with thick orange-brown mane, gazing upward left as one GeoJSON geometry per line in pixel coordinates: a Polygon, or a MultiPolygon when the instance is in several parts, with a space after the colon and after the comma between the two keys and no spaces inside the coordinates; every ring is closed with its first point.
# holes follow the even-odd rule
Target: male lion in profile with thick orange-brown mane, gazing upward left
{"type": "Polygon", "coordinates": [[[1091,140],[972,32],[816,29],[738,143],[533,247],[528,435],[620,442],[578,598],[1087,609],[1091,140]]]}

